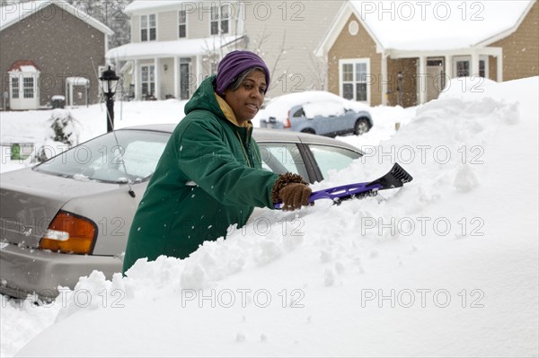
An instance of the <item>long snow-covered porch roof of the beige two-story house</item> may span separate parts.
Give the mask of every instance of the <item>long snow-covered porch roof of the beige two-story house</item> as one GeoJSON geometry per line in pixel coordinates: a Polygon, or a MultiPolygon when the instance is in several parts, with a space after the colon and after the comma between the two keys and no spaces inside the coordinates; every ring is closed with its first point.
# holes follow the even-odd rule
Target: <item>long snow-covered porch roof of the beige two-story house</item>
{"type": "Polygon", "coordinates": [[[209,37],[202,39],[177,39],[173,41],[133,42],[111,48],[105,57],[115,60],[144,59],[155,57],[190,57],[203,54],[213,48],[222,48],[242,36],[209,37]]]}

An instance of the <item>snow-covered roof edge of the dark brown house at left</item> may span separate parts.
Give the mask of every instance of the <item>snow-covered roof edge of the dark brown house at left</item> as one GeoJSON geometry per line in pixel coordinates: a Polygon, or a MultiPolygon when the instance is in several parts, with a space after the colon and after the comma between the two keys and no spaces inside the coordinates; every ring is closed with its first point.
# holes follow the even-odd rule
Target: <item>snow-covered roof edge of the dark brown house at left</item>
{"type": "MultiPolygon", "coordinates": [[[[84,13],[83,9],[75,8],[62,0],[37,0],[26,3],[14,3],[11,1],[5,2],[3,6],[0,7],[0,31],[3,31],[11,25],[20,22],[22,19],[30,16],[31,14],[40,13],[50,4],[56,4],[61,9],[66,10],[67,13],[71,13],[73,16],[88,23],[93,28],[102,31],[107,35],[114,34],[114,31],[110,30],[110,28],[104,25],[102,22],[99,22],[92,16],[84,13]]],[[[43,13],[42,15],[44,18],[49,18],[49,16],[50,13],[43,13]]]]}

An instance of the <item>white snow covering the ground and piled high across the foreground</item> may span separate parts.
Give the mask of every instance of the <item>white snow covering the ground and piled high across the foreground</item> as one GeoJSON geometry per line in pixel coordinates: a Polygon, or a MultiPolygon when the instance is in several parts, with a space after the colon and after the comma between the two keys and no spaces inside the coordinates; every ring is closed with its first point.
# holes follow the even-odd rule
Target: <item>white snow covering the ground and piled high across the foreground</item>
{"type": "MultiPolygon", "coordinates": [[[[2,356],[537,356],[539,78],[473,88],[372,109],[371,132],[339,138],[367,155],[314,185],[400,162],[404,188],[270,212],[49,305],[3,297],[2,356]]],[[[122,127],[183,102],[124,106],[122,127]]],[[[41,141],[47,113],[2,113],[2,142],[41,141]]],[[[99,106],[72,114],[85,139],[104,131],[99,106]]]]}

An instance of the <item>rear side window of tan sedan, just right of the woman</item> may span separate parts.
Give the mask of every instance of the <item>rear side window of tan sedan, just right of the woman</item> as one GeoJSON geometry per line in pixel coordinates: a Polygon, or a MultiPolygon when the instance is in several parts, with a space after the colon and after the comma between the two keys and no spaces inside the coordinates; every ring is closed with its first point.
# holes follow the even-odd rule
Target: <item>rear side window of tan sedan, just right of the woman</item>
{"type": "Polygon", "coordinates": [[[259,143],[262,169],[284,174],[287,171],[301,175],[309,181],[305,162],[296,144],[259,143]]]}

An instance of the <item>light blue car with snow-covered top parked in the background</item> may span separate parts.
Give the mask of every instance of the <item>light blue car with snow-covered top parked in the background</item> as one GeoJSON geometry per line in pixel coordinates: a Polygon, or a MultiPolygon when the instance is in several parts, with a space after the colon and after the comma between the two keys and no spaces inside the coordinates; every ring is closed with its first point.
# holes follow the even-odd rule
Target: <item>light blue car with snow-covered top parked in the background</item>
{"type": "Polygon", "coordinates": [[[290,93],[270,100],[260,118],[262,128],[314,135],[362,135],[373,127],[367,107],[320,91],[290,93]]]}

